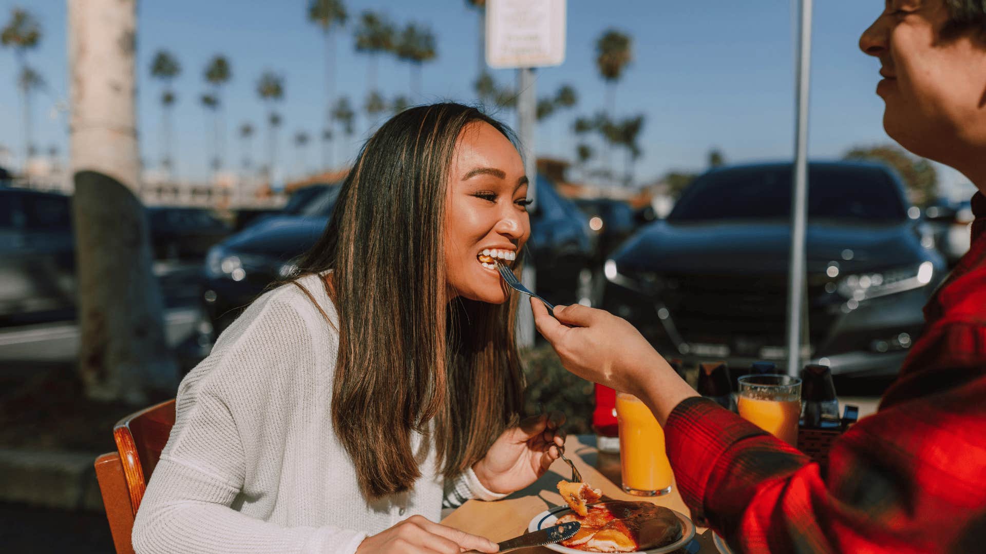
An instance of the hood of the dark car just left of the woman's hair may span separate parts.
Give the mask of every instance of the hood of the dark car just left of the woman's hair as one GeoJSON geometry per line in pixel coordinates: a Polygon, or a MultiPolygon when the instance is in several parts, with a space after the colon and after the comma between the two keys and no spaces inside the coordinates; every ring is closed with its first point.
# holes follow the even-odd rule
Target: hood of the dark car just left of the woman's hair
{"type": "Polygon", "coordinates": [[[222,242],[230,252],[290,259],[315,245],[328,218],[313,216],[272,216],[251,225],[222,242]]]}

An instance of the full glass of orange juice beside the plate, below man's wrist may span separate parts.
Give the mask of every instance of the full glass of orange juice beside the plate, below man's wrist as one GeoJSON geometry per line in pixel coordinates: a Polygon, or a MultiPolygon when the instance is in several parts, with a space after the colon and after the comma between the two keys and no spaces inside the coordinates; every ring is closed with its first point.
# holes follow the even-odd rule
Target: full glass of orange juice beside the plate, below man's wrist
{"type": "Polygon", "coordinates": [[[665,452],[665,432],[651,409],[633,394],[617,392],[616,422],[623,490],[637,496],[671,492],[674,475],[665,452]]]}

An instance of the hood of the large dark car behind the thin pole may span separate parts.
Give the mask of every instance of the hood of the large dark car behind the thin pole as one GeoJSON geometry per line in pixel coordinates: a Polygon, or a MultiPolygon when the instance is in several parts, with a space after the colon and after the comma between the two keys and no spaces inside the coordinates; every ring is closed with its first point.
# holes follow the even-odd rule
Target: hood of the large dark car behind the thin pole
{"type": "MultiPolygon", "coordinates": [[[[824,272],[833,261],[846,273],[932,257],[910,223],[812,222],[805,243],[810,273],[824,272]]],[[[788,271],[790,248],[787,222],[659,221],[632,237],[612,258],[618,266],[644,271],[770,274],[788,271]]]]}

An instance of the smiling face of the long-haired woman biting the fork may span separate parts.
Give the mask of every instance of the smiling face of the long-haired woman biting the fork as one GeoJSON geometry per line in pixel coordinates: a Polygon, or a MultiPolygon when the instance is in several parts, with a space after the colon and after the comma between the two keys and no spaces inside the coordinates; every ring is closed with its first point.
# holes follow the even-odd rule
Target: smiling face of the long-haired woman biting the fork
{"type": "Polygon", "coordinates": [[[509,296],[493,258],[512,265],[530,236],[528,177],[521,155],[489,123],[470,123],[458,137],[447,186],[449,298],[503,304],[509,296]]]}

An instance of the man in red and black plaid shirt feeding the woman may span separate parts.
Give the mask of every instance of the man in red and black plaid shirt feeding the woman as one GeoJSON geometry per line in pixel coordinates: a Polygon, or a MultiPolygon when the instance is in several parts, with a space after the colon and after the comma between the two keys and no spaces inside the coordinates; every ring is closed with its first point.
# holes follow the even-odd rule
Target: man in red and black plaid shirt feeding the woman
{"type": "Polygon", "coordinates": [[[979,188],[972,245],[877,414],[802,452],[699,397],[629,323],[532,302],[569,371],[636,394],[665,426],[681,495],[748,552],[986,552],[986,2],[888,0],[860,39],[886,132],[979,188]]]}

